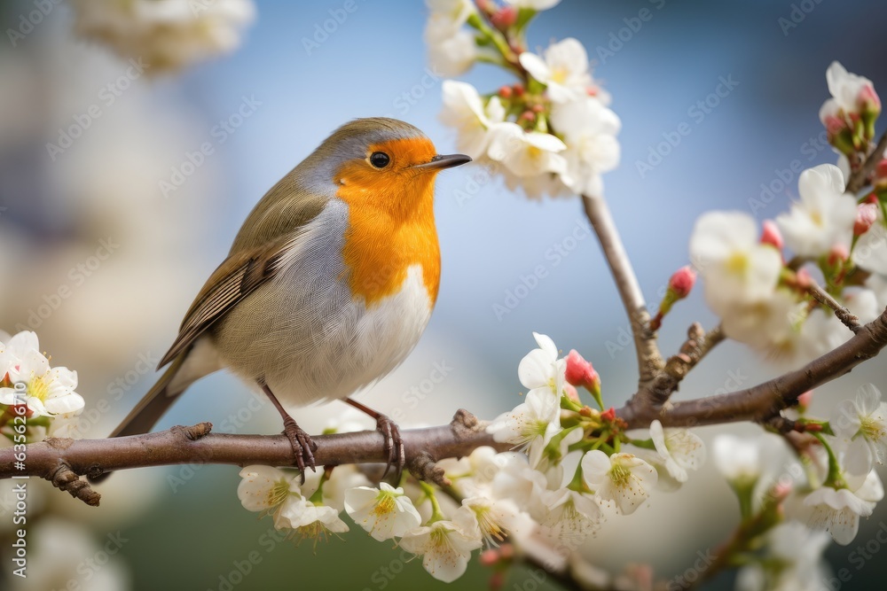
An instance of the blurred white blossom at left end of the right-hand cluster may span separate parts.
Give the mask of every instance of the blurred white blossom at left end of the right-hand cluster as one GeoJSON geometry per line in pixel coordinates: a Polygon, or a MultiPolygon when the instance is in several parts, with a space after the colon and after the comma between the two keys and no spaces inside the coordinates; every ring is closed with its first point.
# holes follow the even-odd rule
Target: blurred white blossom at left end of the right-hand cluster
{"type": "Polygon", "coordinates": [[[690,237],[690,258],[705,281],[705,299],[718,315],[769,299],[782,268],[780,253],[759,243],[754,220],[740,212],[700,216],[690,237]]]}

